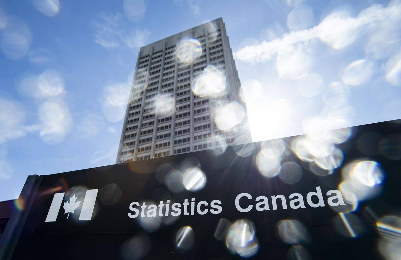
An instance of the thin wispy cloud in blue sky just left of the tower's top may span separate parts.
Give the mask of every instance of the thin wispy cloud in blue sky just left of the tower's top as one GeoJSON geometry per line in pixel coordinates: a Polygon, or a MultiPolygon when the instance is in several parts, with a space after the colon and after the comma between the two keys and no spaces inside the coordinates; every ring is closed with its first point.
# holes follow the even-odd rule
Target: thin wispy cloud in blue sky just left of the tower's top
{"type": "Polygon", "coordinates": [[[99,20],[93,21],[95,32],[93,38],[104,48],[126,46],[140,48],[146,44],[150,32],[146,29],[126,30],[124,16],[117,12],[114,15],[102,13],[99,20]]]}

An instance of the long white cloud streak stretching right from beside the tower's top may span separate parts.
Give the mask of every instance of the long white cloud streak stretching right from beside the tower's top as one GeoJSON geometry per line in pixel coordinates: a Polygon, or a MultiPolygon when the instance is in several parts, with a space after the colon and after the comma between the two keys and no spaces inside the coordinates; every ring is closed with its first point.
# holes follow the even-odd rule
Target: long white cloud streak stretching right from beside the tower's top
{"type": "Polygon", "coordinates": [[[397,26],[401,20],[401,2],[394,0],[386,7],[375,4],[362,10],[355,18],[348,16],[345,11],[328,15],[319,25],[313,28],[292,31],[281,38],[263,41],[261,44],[246,46],[235,52],[235,58],[243,62],[265,62],[277,54],[291,52],[294,48],[306,44],[310,40],[320,39],[336,49],[351,44],[361,30],[370,33],[381,28],[388,22],[397,26]]]}

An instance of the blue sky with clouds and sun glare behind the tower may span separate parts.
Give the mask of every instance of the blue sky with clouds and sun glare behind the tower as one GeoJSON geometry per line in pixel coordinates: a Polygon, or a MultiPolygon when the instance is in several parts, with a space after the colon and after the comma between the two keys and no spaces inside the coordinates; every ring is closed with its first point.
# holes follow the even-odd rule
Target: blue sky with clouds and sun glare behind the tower
{"type": "Polygon", "coordinates": [[[253,141],[401,117],[399,1],[0,0],[0,200],[115,163],[140,46],[219,17],[253,141]]]}

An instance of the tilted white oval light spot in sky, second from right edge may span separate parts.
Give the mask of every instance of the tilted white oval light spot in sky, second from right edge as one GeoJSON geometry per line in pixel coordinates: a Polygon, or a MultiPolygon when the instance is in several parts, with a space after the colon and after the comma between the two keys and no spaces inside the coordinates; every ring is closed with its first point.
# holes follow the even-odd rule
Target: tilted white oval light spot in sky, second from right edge
{"type": "Polygon", "coordinates": [[[347,85],[359,85],[368,81],[373,74],[373,63],[369,60],[357,60],[349,64],[342,72],[341,79],[347,85]]]}

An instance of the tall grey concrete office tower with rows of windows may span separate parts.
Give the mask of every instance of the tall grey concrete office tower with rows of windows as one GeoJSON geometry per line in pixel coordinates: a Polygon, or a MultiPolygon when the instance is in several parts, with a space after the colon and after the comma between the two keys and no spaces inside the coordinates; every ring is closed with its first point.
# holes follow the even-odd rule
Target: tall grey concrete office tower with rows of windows
{"type": "Polygon", "coordinates": [[[251,142],[240,86],[222,18],[143,46],[117,163],[251,142]]]}

